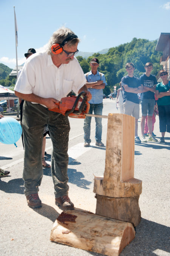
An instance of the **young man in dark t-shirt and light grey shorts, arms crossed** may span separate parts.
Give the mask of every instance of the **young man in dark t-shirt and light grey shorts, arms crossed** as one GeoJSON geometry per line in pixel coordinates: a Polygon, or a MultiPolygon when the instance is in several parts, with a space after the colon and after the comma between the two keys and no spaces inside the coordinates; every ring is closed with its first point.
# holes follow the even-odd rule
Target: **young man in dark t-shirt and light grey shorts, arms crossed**
{"type": "Polygon", "coordinates": [[[141,85],[139,78],[133,76],[134,64],[129,62],[126,64],[128,75],[122,78],[122,87],[124,89],[124,114],[132,115],[135,118],[135,142],[141,143],[138,137],[138,119],[139,119],[139,99],[138,93],[141,93],[141,85]]]}

